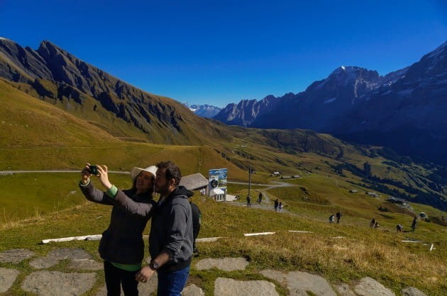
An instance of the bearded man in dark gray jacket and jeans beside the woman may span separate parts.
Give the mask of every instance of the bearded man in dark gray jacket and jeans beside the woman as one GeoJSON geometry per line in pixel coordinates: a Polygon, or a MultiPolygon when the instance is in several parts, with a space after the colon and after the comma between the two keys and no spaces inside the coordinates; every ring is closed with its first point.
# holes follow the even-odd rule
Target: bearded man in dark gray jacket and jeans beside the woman
{"type": "Polygon", "coordinates": [[[193,250],[192,212],[187,198],[193,193],[179,186],[182,174],[170,161],[157,164],[155,192],[158,211],[152,218],[149,252],[152,260],[136,280],[145,283],[158,273],[158,295],[180,295],[189,275],[193,250]]]}

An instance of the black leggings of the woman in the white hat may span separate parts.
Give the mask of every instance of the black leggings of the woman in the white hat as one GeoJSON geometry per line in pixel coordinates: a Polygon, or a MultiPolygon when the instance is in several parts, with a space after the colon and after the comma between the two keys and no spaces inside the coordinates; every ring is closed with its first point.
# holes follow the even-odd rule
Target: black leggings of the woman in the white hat
{"type": "Polygon", "coordinates": [[[137,273],[138,271],[124,271],[109,261],[104,261],[107,296],[119,296],[121,294],[121,285],[123,285],[124,295],[138,296],[138,281],[135,279],[137,273]]]}

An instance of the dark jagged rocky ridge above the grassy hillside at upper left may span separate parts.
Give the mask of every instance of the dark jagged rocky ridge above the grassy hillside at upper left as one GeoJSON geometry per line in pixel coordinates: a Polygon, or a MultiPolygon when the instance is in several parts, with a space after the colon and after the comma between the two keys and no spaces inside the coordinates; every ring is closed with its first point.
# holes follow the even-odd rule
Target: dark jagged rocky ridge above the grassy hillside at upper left
{"type": "Polygon", "coordinates": [[[209,125],[181,103],[141,91],[48,41],[32,50],[0,39],[0,77],[29,84],[43,99],[67,98],[82,105],[86,96],[92,97],[149,139],[167,144],[202,143],[195,130],[209,125]]]}

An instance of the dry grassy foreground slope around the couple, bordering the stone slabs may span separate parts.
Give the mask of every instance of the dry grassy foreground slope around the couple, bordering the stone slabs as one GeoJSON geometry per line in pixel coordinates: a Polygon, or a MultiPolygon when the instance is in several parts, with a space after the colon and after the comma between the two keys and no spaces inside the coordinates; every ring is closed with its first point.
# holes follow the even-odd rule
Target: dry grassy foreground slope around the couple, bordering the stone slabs
{"type": "MultiPolygon", "coordinates": [[[[407,285],[415,286],[429,295],[442,295],[447,288],[445,231],[441,227],[421,224],[412,237],[435,242],[428,246],[404,244],[407,234],[395,234],[392,229],[368,229],[361,219],[346,224],[328,224],[309,220],[301,215],[278,214],[267,210],[248,209],[212,200],[194,198],[202,210],[202,230],[199,237],[226,237],[215,243],[199,244],[200,258],[223,256],[248,258],[246,271],[192,270],[190,283],[198,283],[207,295],[212,295],[214,280],[219,276],[241,280],[263,279],[258,272],[265,268],[283,271],[309,271],[328,278],[332,283],[346,282],[370,276],[395,292],[407,285]],[[307,230],[312,234],[290,233],[288,230],[307,230]],[[247,232],[272,231],[267,237],[243,237],[247,232]],[[333,239],[332,237],[346,237],[333,239]]],[[[53,215],[28,220],[20,226],[1,232],[0,250],[28,248],[46,254],[56,247],[81,247],[96,256],[97,241],[72,241],[38,245],[41,239],[101,233],[109,222],[109,207],[87,203],[53,215]]],[[[343,219],[345,217],[343,216],[343,219]]],[[[147,233],[146,230],[145,233],[147,233]]],[[[194,259],[195,261],[196,259],[194,259]]],[[[1,267],[15,267],[24,275],[31,273],[26,262],[18,265],[1,263],[1,267]]],[[[53,268],[62,270],[64,263],[53,268]]],[[[21,275],[21,278],[24,277],[21,275]]],[[[103,285],[100,275],[97,287],[103,285]]],[[[13,291],[18,291],[18,283],[13,291]]],[[[282,288],[280,292],[285,292],[282,288]]]]}

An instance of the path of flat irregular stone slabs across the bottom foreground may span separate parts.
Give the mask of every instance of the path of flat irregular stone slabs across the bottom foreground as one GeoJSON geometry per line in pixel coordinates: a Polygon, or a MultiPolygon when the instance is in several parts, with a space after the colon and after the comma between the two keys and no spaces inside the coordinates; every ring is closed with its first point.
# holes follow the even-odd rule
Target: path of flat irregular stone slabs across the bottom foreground
{"type": "MultiPolygon", "coordinates": [[[[93,292],[94,295],[106,295],[104,286],[95,285],[99,280],[99,271],[102,263],[92,259],[92,255],[82,249],[53,249],[47,256],[36,257],[31,251],[25,249],[13,249],[0,252],[0,263],[7,263],[8,268],[0,267],[0,292],[8,292],[17,278],[20,289],[36,295],[82,295],[85,292],[93,292]],[[62,260],[69,260],[70,264],[64,272],[54,271],[51,268],[57,266],[62,260]],[[24,261],[24,262],[23,262],[24,261]],[[16,268],[14,268],[14,265],[16,268]],[[31,272],[20,276],[18,266],[30,266],[31,272]],[[50,270],[48,270],[50,269],[50,270]]],[[[392,296],[394,292],[386,288],[373,278],[363,278],[351,283],[329,283],[319,275],[304,271],[264,270],[259,271],[263,280],[238,280],[231,278],[234,271],[240,275],[249,266],[245,258],[194,258],[192,271],[215,272],[219,271],[219,278],[214,282],[214,295],[279,295],[277,288],[287,290],[289,295],[321,295],[341,296],[351,295],[383,295],[392,296]]],[[[250,271],[253,273],[253,271],[250,271]]],[[[102,276],[102,275],[101,275],[102,276]]],[[[140,283],[138,290],[141,295],[150,295],[157,289],[157,277],[151,278],[148,283],[140,283]]],[[[11,293],[11,292],[10,292],[11,293]]],[[[210,294],[211,292],[209,292],[210,294]]],[[[122,293],[121,293],[122,295],[122,293]]],[[[187,284],[182,295],[205,295],[199,285],[187,284]]],[[[406,287],[402,295],[424,296],[425,294],[414,287],[406,287]]]]}

